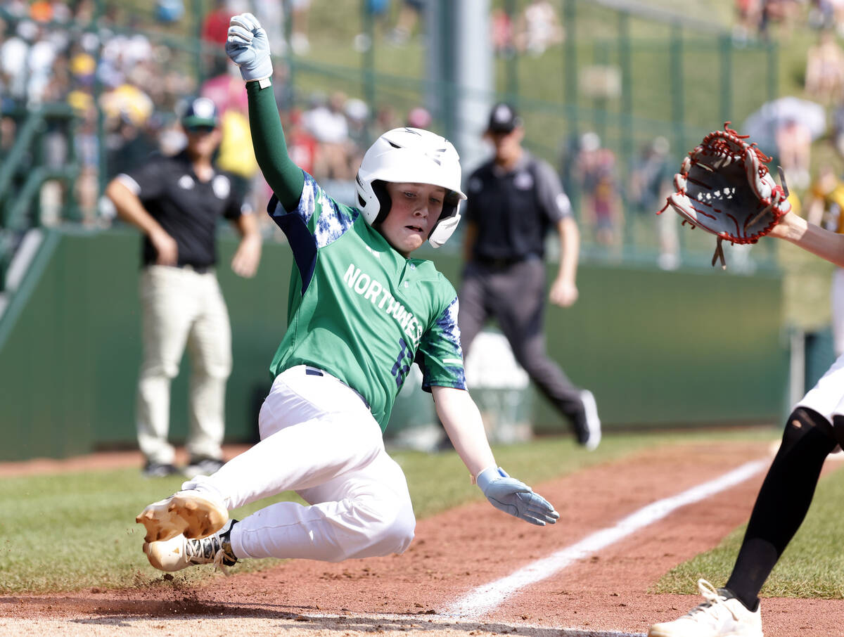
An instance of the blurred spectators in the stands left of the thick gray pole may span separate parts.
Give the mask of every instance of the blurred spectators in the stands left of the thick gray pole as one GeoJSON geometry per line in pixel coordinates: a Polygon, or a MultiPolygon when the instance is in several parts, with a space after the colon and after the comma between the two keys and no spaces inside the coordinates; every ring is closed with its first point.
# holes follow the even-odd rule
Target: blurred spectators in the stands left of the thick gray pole
{"type": "MultiPolygon", "coordinates": [[[[370,4],[386,15],[390,3],[370,4]]],[[[397,46],[419,29],[416,19],[424,3],[401,0],[399,4],[393,12],[396,24],[385,36],[397,46]]],[[[311,0],[292,0],[289,7],[290,24],[285,25],[282,3],[216,0],[201,21],[202,68],[197,73],[189,47],[172,46],[171,35],[170,40],[155,40],[157,34],[168,35],[168,27],[184,16],[181,0],[158,0],[154,13],[145,18],[127,11],[122,3],[108,3],[104,13],[97,13],[95,0],[3,3],[0,147],[11,148],[27,113],[40,105],[71,106],[77,116],[72,132],[67,125],[49,124],[46,164],[63,165],[73,154],[80,165],[73,195],[83,219],[108,224],[114,212],[100,197],[102,184],[152,152],[175,154],[183,148],[186,138],[178,113],[190,97],[203,95],[214,100],[221,113],[223,140],[217,164],[235,175],[237,186],[262,209],[270,193],[257,170],[246,90],[225,56],[225,35],[232,15],[252,11],[268,30],[273,53],[306,55],[311,0]]],[[[422,105],[406,112],[391,105],[373,110],[364,100],[339,91],[293,96],[286,92],[287,67],[277,64],[276,73],[279,114],[290,154],[339,200],[351,202],[351,180],[362,153],[381,132],[404,124],[431,124],[422,105]]],[[[272,228],[268,225],[266,230],[272,228]]]]}

